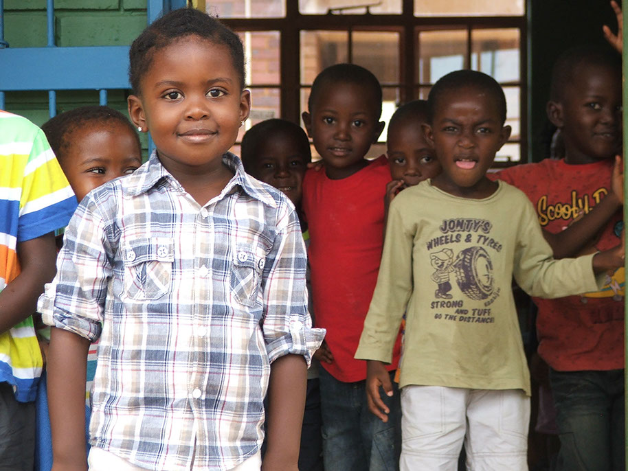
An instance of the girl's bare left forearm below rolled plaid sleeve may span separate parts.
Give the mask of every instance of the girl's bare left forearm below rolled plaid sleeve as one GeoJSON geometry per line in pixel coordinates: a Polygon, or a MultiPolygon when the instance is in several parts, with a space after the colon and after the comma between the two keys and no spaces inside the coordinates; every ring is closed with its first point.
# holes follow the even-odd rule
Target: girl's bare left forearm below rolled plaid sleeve
{"type": "Polygon", "coordinates": [[[52,328],[48,350],[48,409],[52,471],[87,471],[85,382],[89,340],[52,328]]]}

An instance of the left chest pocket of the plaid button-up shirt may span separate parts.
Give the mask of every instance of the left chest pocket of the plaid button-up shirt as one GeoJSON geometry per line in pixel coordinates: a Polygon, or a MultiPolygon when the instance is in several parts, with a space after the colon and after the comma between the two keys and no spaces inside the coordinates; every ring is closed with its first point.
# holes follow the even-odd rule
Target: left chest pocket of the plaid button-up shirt
{"type": "Polygon", "coordinates": [[[145,238],[129,242],[123,249],[124,294],[137,301],[159,299],[170,289],[175,241],[145,238]]]}

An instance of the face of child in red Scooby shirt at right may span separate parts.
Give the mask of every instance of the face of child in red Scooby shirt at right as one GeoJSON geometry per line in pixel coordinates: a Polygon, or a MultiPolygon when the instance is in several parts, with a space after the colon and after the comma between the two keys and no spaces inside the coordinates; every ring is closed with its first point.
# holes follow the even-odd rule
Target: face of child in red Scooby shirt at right
{"type": "Polygon", "coordinates": [[[621,77],[609,67],[577,67],[561,103],[548,104],[561,129],[569,163],[591,163],[620,152],[621,77]]]}

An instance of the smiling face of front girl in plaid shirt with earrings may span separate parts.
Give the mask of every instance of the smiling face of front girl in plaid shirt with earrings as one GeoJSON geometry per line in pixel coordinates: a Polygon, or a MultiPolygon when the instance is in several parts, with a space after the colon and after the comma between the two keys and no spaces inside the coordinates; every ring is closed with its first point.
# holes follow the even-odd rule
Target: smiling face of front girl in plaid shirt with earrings
{"type": "Polygon", "coordinates": [[[249,115],[249,91],[240,90],[229,49],[197,36],[155,52],[140,89],[128,98],[129,115],[150,131],[161,163],[177,179],[221,165],[249,115]]]}

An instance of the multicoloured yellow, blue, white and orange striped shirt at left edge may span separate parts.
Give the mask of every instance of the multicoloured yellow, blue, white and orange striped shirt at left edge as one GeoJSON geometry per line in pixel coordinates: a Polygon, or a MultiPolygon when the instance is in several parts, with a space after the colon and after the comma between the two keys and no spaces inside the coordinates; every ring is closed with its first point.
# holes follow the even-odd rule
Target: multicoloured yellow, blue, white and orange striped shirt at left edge
{"type": "MultiPolygon", "coordinates": [[[[17,245],[65,226],[75,208],[43,132],[0,111],[0,291],[20,273],[17,245]]],[[[12,384],[16,400],[35,400],[42,366],[32,317],[0,334],[0,382],[12,384]]]]}

